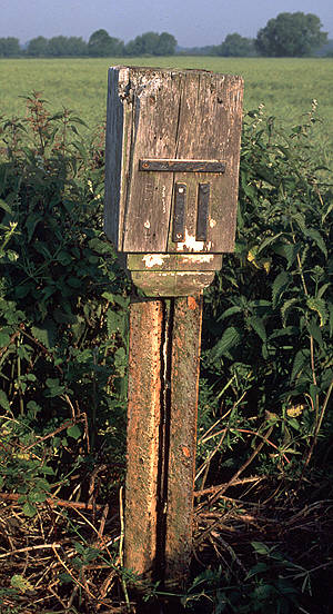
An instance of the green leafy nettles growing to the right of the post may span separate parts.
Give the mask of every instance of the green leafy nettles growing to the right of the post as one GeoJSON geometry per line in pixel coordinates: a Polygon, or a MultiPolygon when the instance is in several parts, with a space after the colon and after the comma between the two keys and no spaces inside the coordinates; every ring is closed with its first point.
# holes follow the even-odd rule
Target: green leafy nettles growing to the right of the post
{"type": "Polygon", "coordinates": [[[235,254],[205,296],[210,447],[223,427],[226,446],[269,438],[260,468],[286,475],[332,434],[333,191],[313,145],[315,107],[291,130],[263,107],[244,118],[235,254]]]}

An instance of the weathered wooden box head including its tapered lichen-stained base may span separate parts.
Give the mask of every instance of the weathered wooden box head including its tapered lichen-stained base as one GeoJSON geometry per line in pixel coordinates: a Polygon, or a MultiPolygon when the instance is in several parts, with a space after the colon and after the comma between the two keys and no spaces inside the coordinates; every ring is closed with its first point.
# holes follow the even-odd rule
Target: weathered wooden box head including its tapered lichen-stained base
{"type": "Polygon", "coordinates": [[[198,294],[232,251],[243,83],[109,70],[104,230],[147,296],[198,294]]]}

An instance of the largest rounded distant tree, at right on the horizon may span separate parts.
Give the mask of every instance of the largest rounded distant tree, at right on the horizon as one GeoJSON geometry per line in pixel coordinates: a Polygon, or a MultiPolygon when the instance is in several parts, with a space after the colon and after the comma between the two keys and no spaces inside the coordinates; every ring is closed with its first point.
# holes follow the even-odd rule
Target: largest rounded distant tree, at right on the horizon
{"type": "Polygon", "coordinates": [[[255,47],[262,56],[310,56],[327,40],[327,33],[321,28],[321,20],[315,14],[280,13],[259,30],[255,47]]]}

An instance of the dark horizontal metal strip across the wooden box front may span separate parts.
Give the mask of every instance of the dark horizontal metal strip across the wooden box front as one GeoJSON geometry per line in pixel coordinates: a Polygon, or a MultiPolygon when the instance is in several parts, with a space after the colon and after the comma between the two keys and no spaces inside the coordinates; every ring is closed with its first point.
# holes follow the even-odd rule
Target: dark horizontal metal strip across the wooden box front
{"type": "Polygon", "coordinates": [[[144,158],[139,160],[139,170],[169,172],[225,172],[225,162],[219,160],[173,160],[144,158]]]}

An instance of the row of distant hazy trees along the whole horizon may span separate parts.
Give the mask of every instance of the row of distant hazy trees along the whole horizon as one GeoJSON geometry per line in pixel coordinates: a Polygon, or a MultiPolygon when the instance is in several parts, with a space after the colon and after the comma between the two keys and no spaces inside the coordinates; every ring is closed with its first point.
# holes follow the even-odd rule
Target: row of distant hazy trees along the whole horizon
{"type": "Polygon", "coordinates": [[[26,49],[20,47],[14,37],[0,38],[0,57],[125,57],[125,56],[222,56],[222,57],[304,57],[311,56],[320,48],[324,55],[333,56],[333,43],[327,41],[327,33],[322,31],[322,23],[313,13],[283,12],[270,19],[259,30],[256,38],[245,38],[238,32],[228,34],[218,46],[178,48],[176,40],[169,32],[145,32],[128,43],[111,37],[100,29],[91,34],[89,41],[82,37],[53,37],[31,39],[26,49]],[[327,44],[329,42],[329,44],[327,44]],[[326,47],[325,47],[326,46],[326,47]]]}

